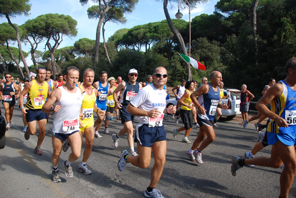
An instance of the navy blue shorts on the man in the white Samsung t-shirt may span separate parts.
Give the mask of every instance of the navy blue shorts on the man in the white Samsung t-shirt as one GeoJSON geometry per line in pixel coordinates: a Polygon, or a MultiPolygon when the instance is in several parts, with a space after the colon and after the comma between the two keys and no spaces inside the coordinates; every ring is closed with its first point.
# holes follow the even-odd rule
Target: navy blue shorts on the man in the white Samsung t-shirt
{"type": "Polygon", "coordinates": [[[137,138],[142,146],[152,147],[155,142],[166,140],[166,132],[163,125],[161,127],[148,126],[147,124],[139,123],[136,128],[135,139],[137,138]]]}

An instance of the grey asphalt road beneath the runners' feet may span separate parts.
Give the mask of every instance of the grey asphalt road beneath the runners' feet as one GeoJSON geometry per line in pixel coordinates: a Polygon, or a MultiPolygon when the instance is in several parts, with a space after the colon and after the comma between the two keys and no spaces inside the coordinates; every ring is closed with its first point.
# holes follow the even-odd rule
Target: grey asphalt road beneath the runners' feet
{"type": "MultiPolygon", "coordinates": [[[[1,105],[2,106],[2,105],[1,105]]],[[[4,112],[3,107],[1,107],[4,112]]],[[[106,135],[100,130],[103,138],[94,139],[92,154],[87,162],[91,175],[78,172],[81,157],[72,164],[74,178],[66,178],[63,163],[71,152],[62,151],[59,169],[61,183],[51,181],[51,126],[50,117],[47,133],[41,145],[44,155],[37,156],[34,148],[37,135],[25,140],[22,115],[15,108],[12,127],[6,132],[6,146],[0,150],[0,197],[2,198],[139,198],[150,182],[150,172],[154,164],[141,169],[131,164],[124,171],[117,169],[116,163],[120,153],[128,149],[126,135],[119,139],[117,149],[112,146],[111,134],[106,135]]],[[[280,168],[255,166],[243,167],[236,177],[230,173],[232,155],[244,156],[257,142],[258,133],[254,124],[247,129],[237,123],[241,120],[222,118],[215,128],[216,140],[203,151],[203,165],[189,161],[185,152],[191,144],[181,142],[184,134],[175,139],[172,131],[183,124],[174,123],[171,117],[165,117],[167,132],[166,164],[157,189],[166,198],[277,198],[279,196],[280,168]]],[[[137,121],[134,123],[136,126],[137,121]]],[[[104,128],[104,124],[103,127],[104,128]]],[[[122,128],[119,121],[112,120],[109,125],[111,133],[122,128]]],[[[197,129],[192,129],[189,140],[197,137],[197,129]]],[[[38,132],[37,132],[38,133],[38,132]]],[[[137,147],[137,146],[135,146],[137,147]]],[[[85,141],[82,151],[85,148],[85,141]]],[[[137,150],[137,148],[136,148],[137,150]]],[[[264,148],[257,156],[270,156],[271,147],[264,148]]],[[[290,197],[296,197],[295,184],[292,185],[290,197]]]]}

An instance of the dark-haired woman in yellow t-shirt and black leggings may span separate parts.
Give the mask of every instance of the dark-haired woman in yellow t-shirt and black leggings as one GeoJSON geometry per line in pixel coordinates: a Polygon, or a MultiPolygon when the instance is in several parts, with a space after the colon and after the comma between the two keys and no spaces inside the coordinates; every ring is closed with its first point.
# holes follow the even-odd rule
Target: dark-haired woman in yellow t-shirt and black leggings
{"type": "Polygon", "coordinates": [[[184,123],[184,127],[174,130],[173,136],[174,138],[177,138],[177,135],[179,134],[179,132],[185,131],[185,136],[182,139],[182,142],[190,144],[191,142],[188,140],[188,135],[191,132],[192,123],[193,123],[192,112],[191,112],[191,110],[193,109],[193,106],[192,106],[193,102],[190,99],[190,95],[194,91],[194,82],[187,81],[185,84],[185,89],[187,89],[185,91],[185,94],[181,97],[181,99],[179,99],[179,103],[182,105],[180,109],[180,115],[184,123]]]}

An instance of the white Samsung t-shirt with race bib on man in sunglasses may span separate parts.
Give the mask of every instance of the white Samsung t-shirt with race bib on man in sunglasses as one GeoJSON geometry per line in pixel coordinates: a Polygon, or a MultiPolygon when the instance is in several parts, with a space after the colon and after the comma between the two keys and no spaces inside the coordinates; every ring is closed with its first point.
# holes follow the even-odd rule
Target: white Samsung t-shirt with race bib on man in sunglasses
{"type": "MultiPolygon", "coordinates": [[[[163,118],[163,111],[166,108],[166,91],[165,90],[159,90],[154,87],[153,84],[145,86],[143,89],[141,89],[138,94],[135,96],[135,98],[130,101],[130,103],[135,106],[139,107],[139,109],[150,111],[152,109],[159,110],[161,114],[159,115],[159,118],[163,118]]],[[[148,116],[139,116],[139,122],[140,124],[150,124],[151,122],[157,122],[157,120],[153,119],[151,120],[148,116]]],[[[162,126],[162,119],[161,124],[157,125],[158,127],[162,126]]]]}

